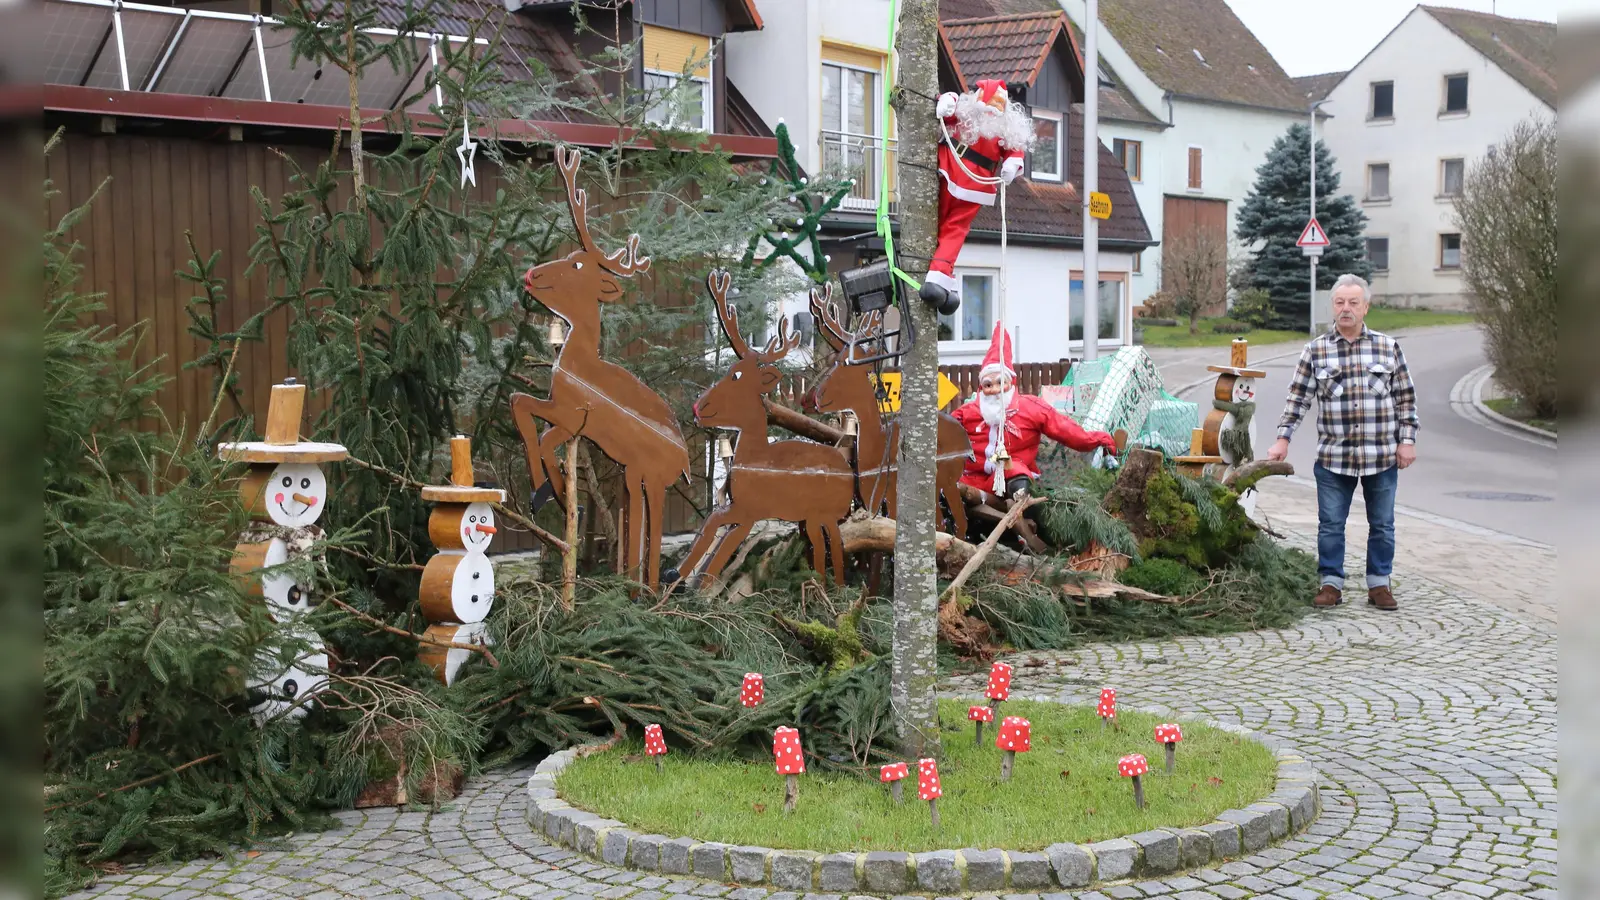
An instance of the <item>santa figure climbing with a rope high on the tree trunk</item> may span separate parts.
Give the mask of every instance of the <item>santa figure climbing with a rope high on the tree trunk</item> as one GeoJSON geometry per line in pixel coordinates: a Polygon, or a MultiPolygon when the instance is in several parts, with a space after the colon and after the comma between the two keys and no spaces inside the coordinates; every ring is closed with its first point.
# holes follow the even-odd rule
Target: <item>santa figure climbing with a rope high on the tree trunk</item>
{"type": "Polygon", "coordinates": [[[962,303],[955,258],[979,207],[994,207],[1000,183],[1010,184],[1022,173],[1022,155],[1034,146],[1034,120],[1011,102],[998,80],[978,82],[971,93],[941,94],[936,112],[949,139],[939,141],[939,245],[920,296],[949,315],[962,303]]]}

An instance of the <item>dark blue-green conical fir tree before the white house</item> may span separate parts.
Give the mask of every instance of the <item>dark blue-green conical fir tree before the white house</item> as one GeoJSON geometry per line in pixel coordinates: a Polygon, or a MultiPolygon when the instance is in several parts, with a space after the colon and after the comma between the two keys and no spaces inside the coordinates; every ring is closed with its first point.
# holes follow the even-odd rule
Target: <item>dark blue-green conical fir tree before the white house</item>
{"type": "MultiPolygon", "coordinates": [[[[1264,288],[1277,311],[1275,328],[1306,328],[1307,266],[1294,245],[1306,227],[1310,199],[1310,167],[1306,143],[1310,130],[1291,125],[1274,141],[1267,160],[1256,170],[1256,186],[1238,208],[1235,235],[1245,247],[1264,240],[1250,263],[1245,287],[1264,288]]],[[[1363,232],[1366,213],[1349,194],[1339,194],[1339,173],[1326,144],[1317,141],[1317,221],[1333,243],[1317,264],[1317,288],[1328,290],[1334,279],[1354,272],[1371,277],[1363,232]]]]}

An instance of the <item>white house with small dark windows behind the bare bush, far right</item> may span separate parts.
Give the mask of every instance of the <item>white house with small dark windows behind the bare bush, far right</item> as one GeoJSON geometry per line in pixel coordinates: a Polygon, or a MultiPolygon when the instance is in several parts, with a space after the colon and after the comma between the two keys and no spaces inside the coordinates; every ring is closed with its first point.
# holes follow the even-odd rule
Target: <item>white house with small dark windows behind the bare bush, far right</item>
{"type": "Polygon", "coordinates": [[[1454,199],[1518,122],[1555,117],[1555,26],[1418,6],[1328,91],[1322,139],[1366,213],[1373,288],[1464,307],[1454,199]]]}

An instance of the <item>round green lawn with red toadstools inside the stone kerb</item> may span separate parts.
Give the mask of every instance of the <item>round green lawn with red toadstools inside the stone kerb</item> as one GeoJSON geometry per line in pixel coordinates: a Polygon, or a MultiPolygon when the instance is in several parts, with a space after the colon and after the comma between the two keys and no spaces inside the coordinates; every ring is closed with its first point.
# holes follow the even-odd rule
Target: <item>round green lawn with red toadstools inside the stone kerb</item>
{"type": "MultiPolygon", "coordinates": [[[[1005,703],[1002,716],[1024,716],[1034,729],[1032,753],[1019,753],[1010,781],[1000,781],[995,724],[973,748],[968,701],[941,700],[944,757],[939,780],[942,828],[917,801],[917,765],[906,781],[906,804],[870,775],[806,773],[800,806],[782,812],[784,778],[768,759],[669,754],[666,772],[642,756],[638,743],[574,761],[557,780],[562,799],[626,822],[638,831],[776,849],[936,850],[1005,847],[1038,850],[1059,841],[1102,841],[1158,826],[1190,826],[1272,793],[1277,762],[1267,748],[1222,730],[1184,724],[1178,773],[1162,773],[1160,722],[1125,713],[1122,730],[1102,730],[1091,708],[1005,703]],[[1133,785],[1117,777],[1117,759],[1142,753],[1146,809],[1133,806],[1133,785]]],[[[803,735],[803,730],[802,730],[803,735]]]]}

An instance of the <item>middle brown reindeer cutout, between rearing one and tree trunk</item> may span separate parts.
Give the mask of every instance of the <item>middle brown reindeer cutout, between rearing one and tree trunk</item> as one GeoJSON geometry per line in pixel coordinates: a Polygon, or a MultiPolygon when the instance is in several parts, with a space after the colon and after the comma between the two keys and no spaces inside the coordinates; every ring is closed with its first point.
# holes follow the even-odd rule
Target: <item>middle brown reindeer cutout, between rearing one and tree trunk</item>
{"type": "Polygon", "coordinates": [[[762,397],[778,388],[782,373],[776,364],[800,344],[800,336],[790,336],[789,323],[781,322],[778,336],[766,343],[766,349],[752,351],[739,333],[738,312],[728,303],[731,282],[722,269],[706,279],[717,304],[717,320],[738,359],[722,381],[701,394],[694,404],[694,421],[738,431],[739,439],[728,466],[726,498],[706,517],[680,572],[690,577],[706,551],[717,543],[717,533],[728,527],[728,535],[717,543],[717,551],[706,565],[704,577],[715,578],[757,522],[781,519],[797,522],[805,530],[811,540],[811,565],[819,573],[827,572],[826,551],[832,548],[834,581],[843,585],[845,541],[838,524],[850,516],[856,493],[854,472],[837,447],[810,440],[766,440],[766,408],[762,397]]]}

